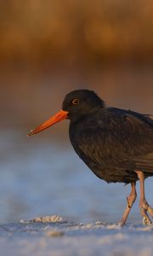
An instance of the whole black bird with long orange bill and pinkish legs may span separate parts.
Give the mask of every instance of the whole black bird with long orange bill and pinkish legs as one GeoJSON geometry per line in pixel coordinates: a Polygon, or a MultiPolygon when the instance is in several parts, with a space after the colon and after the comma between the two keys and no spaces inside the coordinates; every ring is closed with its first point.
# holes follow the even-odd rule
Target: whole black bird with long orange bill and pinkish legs
{"type": "Polygon", "coordinates": [[[70,119],[71,144],[96,176],[107,183],[131,183],[120,224],[126,223],[136,199],[138,180],[140,212],[144,224],[151,224],[153,208],[145,199],[144,179],[153,176],[153,119],[131,110],[108,108],[93,90],[73,90],[65,96],[62,110],[28,136],[63,119],[70,119]]]}

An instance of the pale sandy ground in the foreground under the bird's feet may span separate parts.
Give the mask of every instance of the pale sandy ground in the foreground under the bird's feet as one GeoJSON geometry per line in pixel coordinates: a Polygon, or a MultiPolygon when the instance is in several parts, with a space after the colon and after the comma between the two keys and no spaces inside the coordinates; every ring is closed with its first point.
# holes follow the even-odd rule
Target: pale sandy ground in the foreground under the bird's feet
{"type": "Polygon", "coordinates": [[[76,224],[59,216],[0,225],[0,254],[152,256],[153,225],[76,224]]]}

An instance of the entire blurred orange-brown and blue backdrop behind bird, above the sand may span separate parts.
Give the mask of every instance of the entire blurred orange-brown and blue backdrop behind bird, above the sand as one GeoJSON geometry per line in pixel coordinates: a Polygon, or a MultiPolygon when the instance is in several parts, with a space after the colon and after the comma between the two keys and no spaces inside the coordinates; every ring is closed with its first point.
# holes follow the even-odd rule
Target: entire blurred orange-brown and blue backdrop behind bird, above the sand
{"type": "MultiPolygon", "coordinates": [[[[0,223],[55,213],[121,218],[128,186],[94,177],[71,148],[68,121],[26,134],[79,88],[153,113],[152,13],[151,0],[0,1],[0,223]]],[[[141,221],[137,207],[131,222],[141,221]]]]}

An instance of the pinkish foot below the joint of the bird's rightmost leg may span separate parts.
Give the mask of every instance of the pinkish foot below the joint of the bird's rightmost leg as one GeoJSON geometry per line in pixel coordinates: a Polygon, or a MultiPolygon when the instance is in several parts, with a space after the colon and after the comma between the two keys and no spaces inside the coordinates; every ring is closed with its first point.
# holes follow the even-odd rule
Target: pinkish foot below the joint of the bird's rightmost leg
{"type": "Polygon", "coordinates": [[[150,217],[148,216],[148,213],[150,214],[151,218],[153,218],[153,209],[150,207],[150,205],[147,203],[147,201],[143,201],[140,205],[140,211],[143,218],[143,224],[150,225],[152,224],[152,221],[150,220],[150,217]]]}

